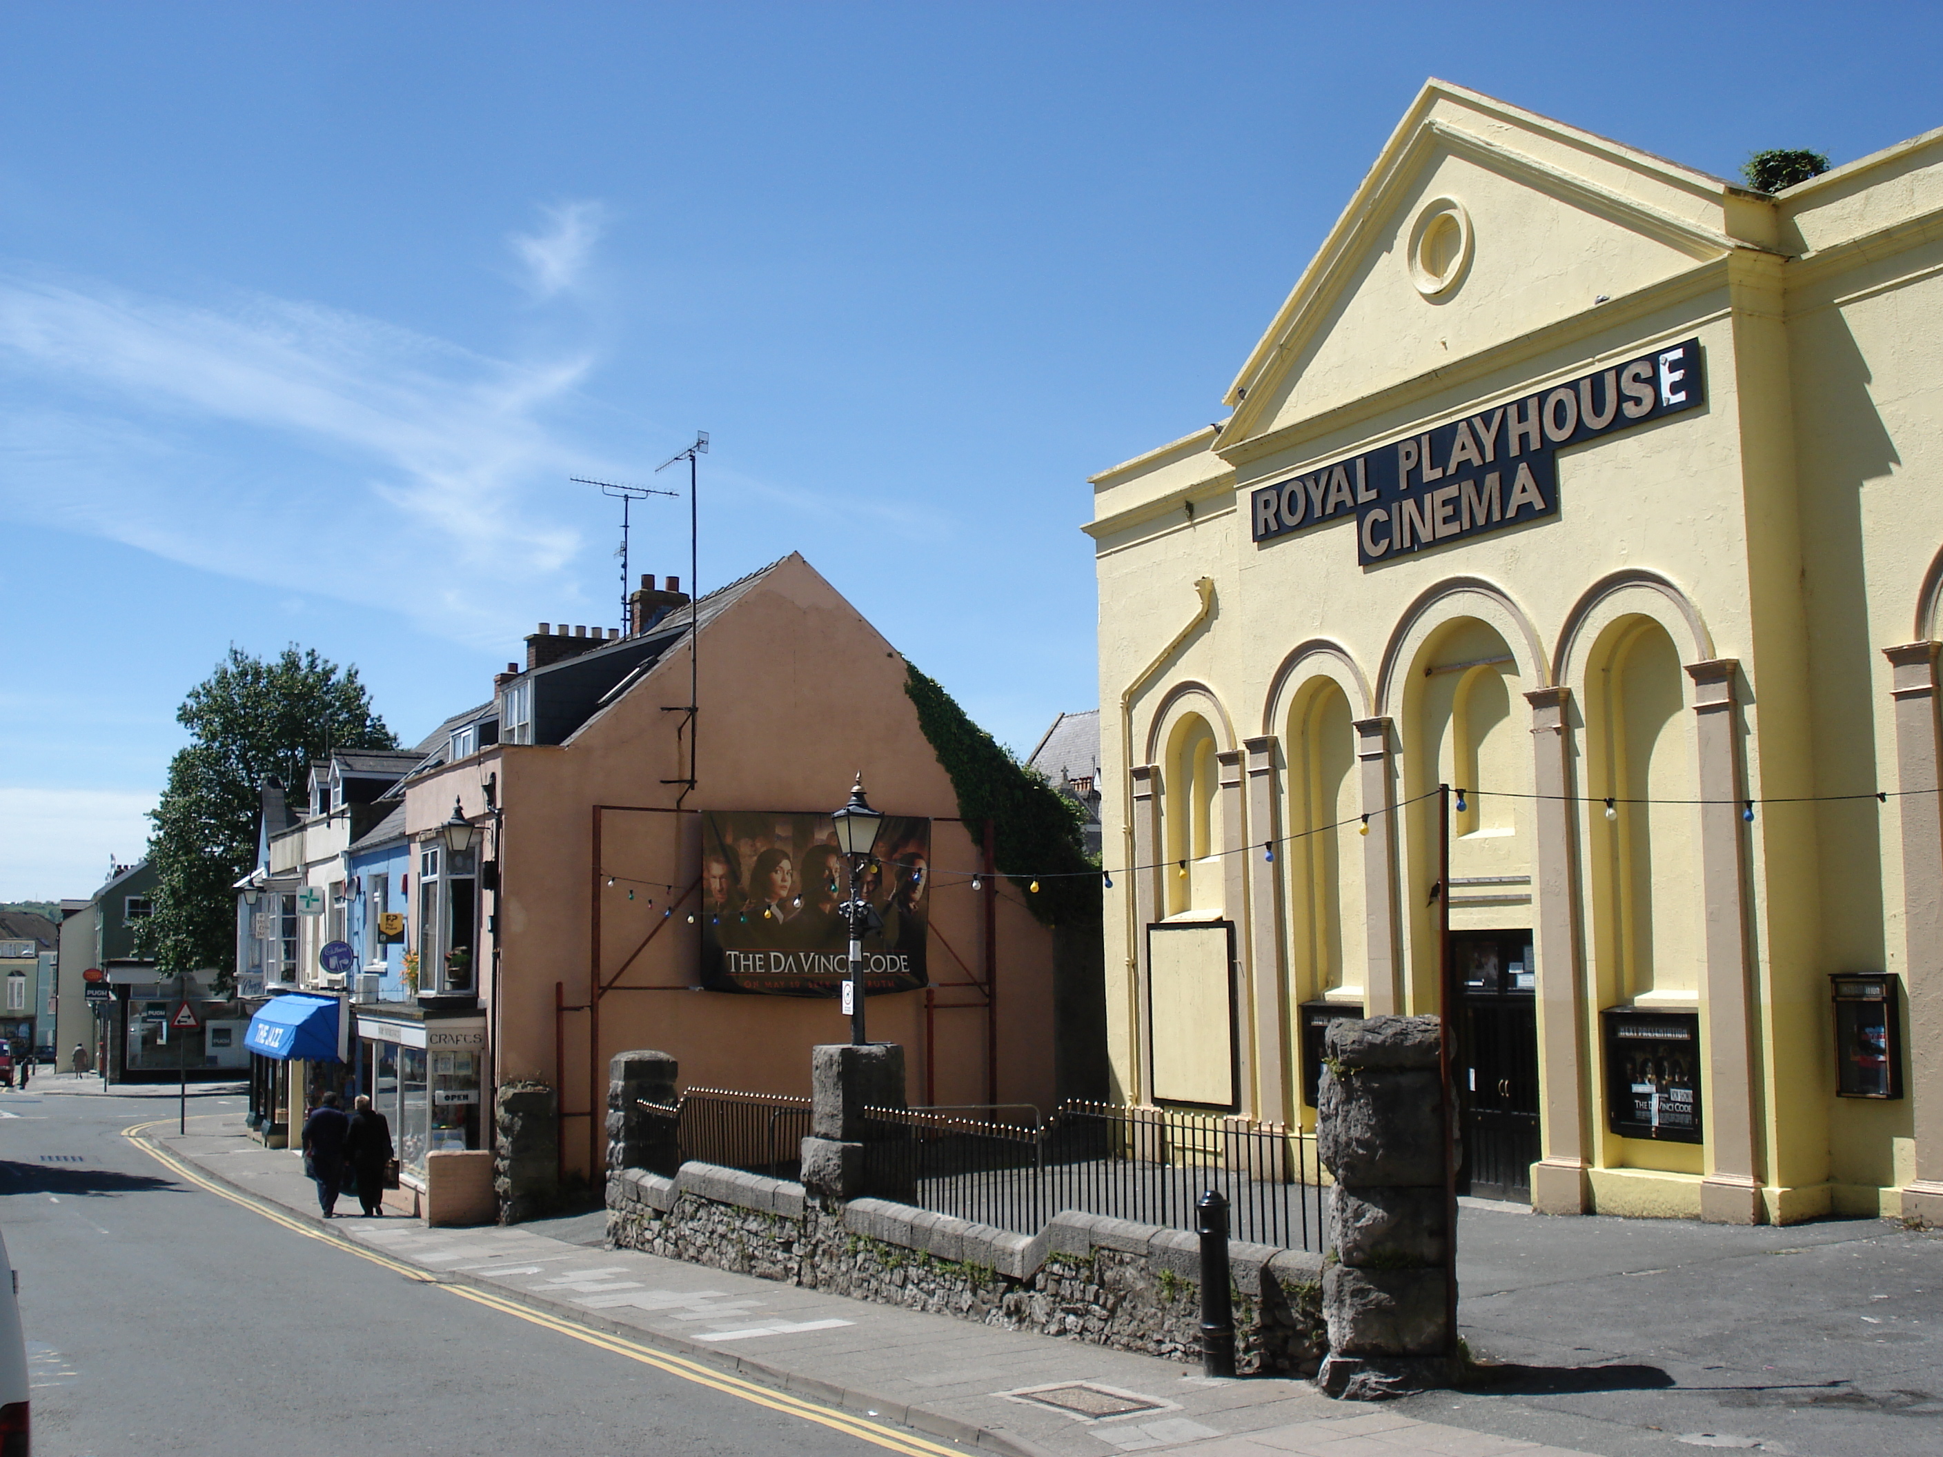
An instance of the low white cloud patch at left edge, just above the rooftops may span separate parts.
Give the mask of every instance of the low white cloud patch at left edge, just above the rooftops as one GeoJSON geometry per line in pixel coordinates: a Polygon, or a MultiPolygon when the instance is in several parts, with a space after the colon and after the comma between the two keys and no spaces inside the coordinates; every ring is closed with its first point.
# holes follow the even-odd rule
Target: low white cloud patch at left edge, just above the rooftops
{"type": "Polygon", "coordinates": [[[148,845],[153,795],[0,785],[0,899],[87,896],[148,845]]]}

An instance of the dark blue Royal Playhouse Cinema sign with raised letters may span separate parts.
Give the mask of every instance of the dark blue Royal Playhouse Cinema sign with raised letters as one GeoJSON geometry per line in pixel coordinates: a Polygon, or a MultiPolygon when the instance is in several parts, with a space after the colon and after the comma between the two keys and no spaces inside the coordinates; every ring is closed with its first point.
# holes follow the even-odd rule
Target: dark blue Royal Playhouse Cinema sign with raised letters
{"type": "Polygon", "coordinates": [[[1556,453],[1706,402],[1700,340],[1434,425],[1249,495],[1257,542],[1356,517],[1370,567],[1558,511],[1556,453]]]}

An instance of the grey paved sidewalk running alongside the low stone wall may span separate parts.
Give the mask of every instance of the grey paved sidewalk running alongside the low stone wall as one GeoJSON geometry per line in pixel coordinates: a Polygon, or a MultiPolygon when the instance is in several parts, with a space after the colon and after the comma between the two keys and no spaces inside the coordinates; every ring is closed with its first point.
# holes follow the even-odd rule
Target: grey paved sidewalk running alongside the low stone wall
{"type": "MultiPolygon", "coordinates": [[[[188,1136],[163,1123],[152,1136],[233,1189],[317,1218],[297,1158],[249,1140],[235,1115],[192,1117],[188,1136]]],[[[356,1210],[356,1201],[340,1208],[346,1204],[356,1210]]],[[[1306,1381],[1209,1381],[1148,1356],[602,1249],[602,1230],[600,1214],[503,1230],[319,1220],[323,1234],[441,1280],[490,1288],[593,1329],[1018,1457],[1570,1457],[1564,1447],[1395,1408],[1339,1405],[1306,1381]]]]}

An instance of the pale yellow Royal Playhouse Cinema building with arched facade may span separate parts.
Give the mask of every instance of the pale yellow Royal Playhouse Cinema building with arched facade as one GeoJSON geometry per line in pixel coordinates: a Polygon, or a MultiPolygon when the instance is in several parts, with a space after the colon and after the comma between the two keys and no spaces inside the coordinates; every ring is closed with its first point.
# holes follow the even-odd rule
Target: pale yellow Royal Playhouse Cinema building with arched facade
{"type": "Polygon", "coordinates": [[[1432,82],[1226,404],[1094,478],[1117,1092],[1310,1121],[1448,917],[1473,1193],[1943,1224],[1943,132],[1432,82]]]}

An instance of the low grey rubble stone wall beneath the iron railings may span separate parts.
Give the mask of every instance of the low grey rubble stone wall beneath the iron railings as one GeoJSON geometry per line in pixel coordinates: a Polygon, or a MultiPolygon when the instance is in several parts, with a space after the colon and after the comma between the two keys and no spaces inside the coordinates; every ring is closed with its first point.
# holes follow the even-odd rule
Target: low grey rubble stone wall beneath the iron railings
{"type": "MultiPolygon", "coordinates": [[[[684,1164],[608,1175],[608,1245],[853,1300],[956,1315],[1187,1364],[1201,1360],[1201,1243],[1063,1212],[1038,1236],[884,1199],[684,1164]]],[[[1327,1340],[1315,1255],[1230,1243],[1236,1370],[1313,1375],[1327,1340]]]]}

